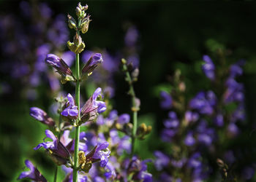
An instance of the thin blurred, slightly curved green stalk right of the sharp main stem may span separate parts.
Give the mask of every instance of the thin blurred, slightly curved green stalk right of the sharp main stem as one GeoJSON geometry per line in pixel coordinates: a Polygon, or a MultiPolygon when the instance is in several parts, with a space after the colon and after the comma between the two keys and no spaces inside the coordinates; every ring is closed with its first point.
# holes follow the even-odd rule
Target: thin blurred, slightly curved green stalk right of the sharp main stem
{"type": "Polygon", "coordinates": [[[126,72],[127,82],[129,83],[129,95],[132,96],[132,113],[133,113],[133,126],[132,126],[132,155],[135,153],[135,139],[136,139],[136,131],[138,127],[138,106],[136,105],[136,95],[135,90],[132,85],[132,78],[129,75],[129,71],[127,70],[127,66],[124,64],[124,71],[126,72]]]}

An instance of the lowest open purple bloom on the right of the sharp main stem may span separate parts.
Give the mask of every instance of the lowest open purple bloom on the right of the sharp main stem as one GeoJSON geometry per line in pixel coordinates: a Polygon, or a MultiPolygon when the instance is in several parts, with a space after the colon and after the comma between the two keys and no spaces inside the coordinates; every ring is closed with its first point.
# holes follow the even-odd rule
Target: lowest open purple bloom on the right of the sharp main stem
{"type": "Polygon", "coordinates": [[[96,151],[92,159],[100,159],[99,165],[105,167],[108,163],[108,157],[110,157],[110,150],[108,149],[108,142],[104,142],[97,146],[96,151]]]}

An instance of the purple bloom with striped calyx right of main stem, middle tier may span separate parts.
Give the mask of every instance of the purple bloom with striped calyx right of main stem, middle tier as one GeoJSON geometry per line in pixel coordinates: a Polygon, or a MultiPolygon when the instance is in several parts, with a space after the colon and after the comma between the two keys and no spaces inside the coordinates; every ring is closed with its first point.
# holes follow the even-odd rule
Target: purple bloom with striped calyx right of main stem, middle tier
{"type": "Polygon", "coordinates": [[[107,109],[105,102],[97,100],[99,96],[103,98],[101,88],[97,88],[91,98],[89,98],[83,108],[81,108],[82,122],[94,121],[97,117],[97,113],[102,113],[107,109]]]}

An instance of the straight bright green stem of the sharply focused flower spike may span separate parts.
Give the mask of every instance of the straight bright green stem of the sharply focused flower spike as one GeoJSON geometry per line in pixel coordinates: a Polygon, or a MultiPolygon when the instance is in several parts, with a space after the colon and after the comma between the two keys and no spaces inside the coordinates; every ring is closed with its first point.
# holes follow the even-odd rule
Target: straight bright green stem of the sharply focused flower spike
{"type": "MultiPolygon", "coordinates": [[[[78,27],[80,27],[81,20],[78,20],[78,27]]],[[[79,36],[79,30],[77,31],[79,36]]],[[[80,126],[78,122],[80,121],[80,67],[79,67],[79,54],[75,55],[75,76],[77,79],[75,86],[75,103],[78,106],[78,120],[75,127],[75,151],[74,151],[74,168],[73,168],[73,182],[78,181],[78,151],[79,151],[79,135],[80,126]]]]}

